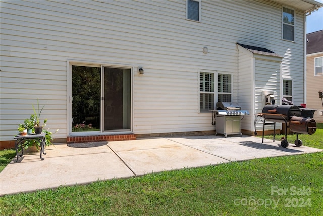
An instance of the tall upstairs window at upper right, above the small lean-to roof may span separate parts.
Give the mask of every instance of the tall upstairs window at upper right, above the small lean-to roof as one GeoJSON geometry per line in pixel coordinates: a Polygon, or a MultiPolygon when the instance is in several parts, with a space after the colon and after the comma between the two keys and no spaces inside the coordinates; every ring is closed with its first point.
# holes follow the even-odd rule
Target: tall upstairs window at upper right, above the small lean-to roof
{"type": "Polygon", "coordinates": [[[295,37],[295,11],[293,9],[283,7],[283,39],[294,41],[295,37]]]}

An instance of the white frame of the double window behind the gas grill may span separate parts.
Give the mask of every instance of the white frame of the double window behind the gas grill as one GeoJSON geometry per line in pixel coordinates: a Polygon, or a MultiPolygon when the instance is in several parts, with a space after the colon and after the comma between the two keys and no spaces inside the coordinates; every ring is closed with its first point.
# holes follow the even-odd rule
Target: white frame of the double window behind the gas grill
{"type": "Polygon", "coordinates": [[[216,104],[217,102],[219,101],[219,94],[228,94],[228,95],[231,95],[231,101],[232,102],[232,97],[233,97],[233,94],[232,94],[232,91],[233,91],[233,74],[232,73],[227,73],[227,72],[217,72],[217,71],[211,71],[211,70],[199,70],[198,71],[198,110],[199,110],[199,113],[210,113],[211,110],[215,110],[216,109],[216,104]],[[200,75],[201,73],[211,73],[213,74],[213,77],[214,77],[214,91],[200,91],[200,75]],[[219,74],[224,74],[224,75],[230,75],[231,77],[231,88],[230,88],[230,92],[219,92],[218,91],[218,76],[219,74]],[[200,94],[213,94],[213,101],[214,101],[214,104],[213,104],[213,107],[211,108],[211,110],[201,110],[201,106],[200,106],[200,94]]]}

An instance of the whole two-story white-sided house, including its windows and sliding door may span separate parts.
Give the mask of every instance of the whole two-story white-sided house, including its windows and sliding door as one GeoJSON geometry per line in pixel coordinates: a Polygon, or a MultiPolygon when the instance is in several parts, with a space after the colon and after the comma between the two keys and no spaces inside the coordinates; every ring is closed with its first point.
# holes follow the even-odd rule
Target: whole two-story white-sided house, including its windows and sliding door
{"type": "Polygon", "coordinates": [[[253,134],[265,94],[273,93],[276,104],[283,96],[304,103],[306,14],[322,6],[313,0],[0,4],[2,146],[37,98],[60,142],[214,134],[210,110],[218,101],[249,110],[241,128],[253,134]]]}

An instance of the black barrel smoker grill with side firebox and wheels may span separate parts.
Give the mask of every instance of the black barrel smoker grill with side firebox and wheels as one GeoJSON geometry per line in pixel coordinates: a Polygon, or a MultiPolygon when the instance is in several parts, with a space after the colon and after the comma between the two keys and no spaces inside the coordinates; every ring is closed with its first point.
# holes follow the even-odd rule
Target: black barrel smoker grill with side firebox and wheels
{"type": "Polygon", "coordinates": [[[301,111],[298,106],[294,105],[266,105],[262,109],[262,113],[258,114],[264,118],[262,129],[262,142],[264,136],[264,126],[274,124],[274,140],[275,141],[275,126],[276,122],[285,123],[285,137],[281,141],[282,147],[288,147],[287,128],[290,131],[296,132],[295,145],[301,146],[303,143],[298,139],[298,133],[312,135],[316,131],[316,122],[312,118],[300,117],[301,111]],[[269,121],[270,123],[266,123],[269,121]]]}

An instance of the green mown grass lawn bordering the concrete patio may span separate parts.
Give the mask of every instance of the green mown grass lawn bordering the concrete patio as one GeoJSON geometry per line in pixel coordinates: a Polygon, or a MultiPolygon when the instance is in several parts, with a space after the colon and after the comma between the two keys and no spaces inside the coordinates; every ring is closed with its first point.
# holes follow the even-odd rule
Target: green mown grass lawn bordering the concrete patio
{"type": "Polygon", "coordinates": [[[0,215],[322,215],[322,174],[323,152],[253,159],[6,195],[0,215]]]}

